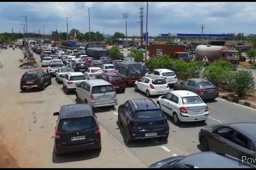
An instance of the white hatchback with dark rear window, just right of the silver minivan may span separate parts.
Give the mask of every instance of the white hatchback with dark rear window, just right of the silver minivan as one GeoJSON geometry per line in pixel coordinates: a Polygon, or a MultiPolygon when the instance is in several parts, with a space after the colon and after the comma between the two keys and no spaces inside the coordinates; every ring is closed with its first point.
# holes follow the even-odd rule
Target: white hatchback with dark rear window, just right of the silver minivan
{"type": "Polygon", "coordinates": [[[135,82],[134,90],[146,93],[147,97],[166,94],[170,91],[167,82],[160,76],[142,77],[135,82]]]}

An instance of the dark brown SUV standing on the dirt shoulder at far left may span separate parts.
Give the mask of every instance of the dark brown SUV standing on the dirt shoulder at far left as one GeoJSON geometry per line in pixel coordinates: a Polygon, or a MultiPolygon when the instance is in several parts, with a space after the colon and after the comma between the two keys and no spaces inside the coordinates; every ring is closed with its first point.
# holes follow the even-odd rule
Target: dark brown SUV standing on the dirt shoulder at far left
{"type": "Polygon", "coordinates": [[[51,75],[47,74],[43,70],[28,71],[23,74],[20,80],[21,91],[26,91],[31,88],[45,89],[46,85],[52,84],[51,75]]]}

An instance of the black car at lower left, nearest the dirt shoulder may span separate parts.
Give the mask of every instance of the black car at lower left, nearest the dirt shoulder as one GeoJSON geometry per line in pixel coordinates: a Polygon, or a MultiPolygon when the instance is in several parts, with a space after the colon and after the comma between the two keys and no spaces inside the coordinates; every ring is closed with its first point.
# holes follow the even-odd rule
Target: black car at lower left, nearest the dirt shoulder
{"type": "Polygon", "coordinates": [[[65,105],[53,115],[58,115],[54,140],[56,156],[87,149],[101,151],[100,129],[91,105],[65,105]]]}

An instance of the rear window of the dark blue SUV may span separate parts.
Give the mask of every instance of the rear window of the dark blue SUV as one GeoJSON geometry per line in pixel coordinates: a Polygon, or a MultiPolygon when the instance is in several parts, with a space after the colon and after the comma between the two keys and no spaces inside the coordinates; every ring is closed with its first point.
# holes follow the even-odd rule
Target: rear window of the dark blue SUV
{"type": "Polygon", "coordinates": [[[136,119],[157,119],[163,118],[164,114],[161,110],[147,110],[135,112],[136,119]]]}

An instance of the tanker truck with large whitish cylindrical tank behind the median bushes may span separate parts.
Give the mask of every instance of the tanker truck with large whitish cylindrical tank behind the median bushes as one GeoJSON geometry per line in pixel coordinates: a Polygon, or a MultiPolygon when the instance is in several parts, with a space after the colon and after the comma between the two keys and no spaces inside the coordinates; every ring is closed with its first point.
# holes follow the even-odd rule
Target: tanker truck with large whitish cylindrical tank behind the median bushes
{"type": "Polygon", "coordinates": [[[195,49],[197,59],[202,62],[217,60],[229,61],[234,65],[239,64],[239,53],[237,50],[229,49],[226,46],[198,45],[195,49]]]}

